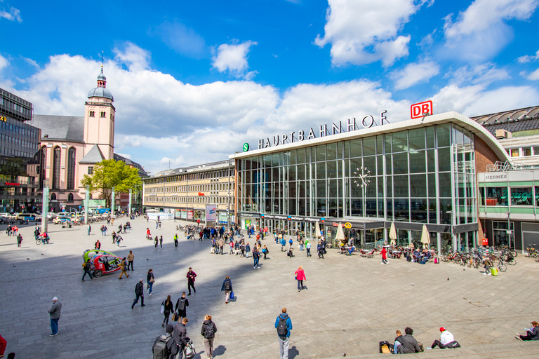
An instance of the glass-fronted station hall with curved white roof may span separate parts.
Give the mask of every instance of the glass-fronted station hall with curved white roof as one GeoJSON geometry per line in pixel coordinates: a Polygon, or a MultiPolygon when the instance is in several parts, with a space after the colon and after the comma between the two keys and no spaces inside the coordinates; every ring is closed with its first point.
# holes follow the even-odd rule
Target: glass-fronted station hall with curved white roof
{"type": "Polygon", "coordinates": [[[442,252],[477,245],[476,175],[509,161],[491,133],[456,112],[364,129],[348,122],[268,137],[231,155],[241,226],[313,238],[318,222],[336,245],[336,226],[347,224],[350,241],[373,248],[390,241],[392,223],[397,244],[418,245],[426,224],[442,252]]]}

